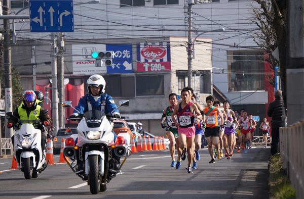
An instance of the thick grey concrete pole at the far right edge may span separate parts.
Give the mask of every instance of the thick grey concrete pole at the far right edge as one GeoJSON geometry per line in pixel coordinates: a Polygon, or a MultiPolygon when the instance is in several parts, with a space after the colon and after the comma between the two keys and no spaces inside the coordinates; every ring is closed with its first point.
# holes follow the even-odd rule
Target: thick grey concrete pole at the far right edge
{"type": "Polygon", "coordinates": [[[292,125],[304,119],[304,0],[287,1],[288,13],[288,64],[287,121],[292,125]]]}

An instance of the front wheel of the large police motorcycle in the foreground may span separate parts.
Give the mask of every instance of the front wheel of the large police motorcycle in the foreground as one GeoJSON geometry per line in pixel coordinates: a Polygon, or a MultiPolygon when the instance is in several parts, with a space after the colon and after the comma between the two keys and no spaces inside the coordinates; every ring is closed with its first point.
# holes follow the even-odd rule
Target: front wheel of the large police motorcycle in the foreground
{"type": "Polygon", "coordinates": [[[90,192],[97,194],[99,192],[99,162],[98,155],[89,156],[89,184],[90,192]]]}

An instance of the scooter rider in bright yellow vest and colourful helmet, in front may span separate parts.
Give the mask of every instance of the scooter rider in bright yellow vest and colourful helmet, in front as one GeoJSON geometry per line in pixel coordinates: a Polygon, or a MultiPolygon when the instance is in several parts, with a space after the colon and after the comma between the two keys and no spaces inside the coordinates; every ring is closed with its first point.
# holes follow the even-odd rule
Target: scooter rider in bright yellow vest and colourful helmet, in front
{"type": "MultiPolygon", "coordinates": [[[[36,94],[32,90],[26,90],[22,96],[23,103],[14,111],[13,115],[18,118],[23,124],[32,124],[33,120],[41,121],[45,126],[52,124],[52,119],[44,109],[37,105],[36,94]]],[[[18,121],[14,117],[10,117],[8,120],[8,128],[15,126],[18,121]]],[[[47,139],[47,131],[41,133],[41,146],[42,151],[45,149],[45,143],[47,139]]],[[[12,142],[14,144],[14,135],[12,136],[12,142]]]]}

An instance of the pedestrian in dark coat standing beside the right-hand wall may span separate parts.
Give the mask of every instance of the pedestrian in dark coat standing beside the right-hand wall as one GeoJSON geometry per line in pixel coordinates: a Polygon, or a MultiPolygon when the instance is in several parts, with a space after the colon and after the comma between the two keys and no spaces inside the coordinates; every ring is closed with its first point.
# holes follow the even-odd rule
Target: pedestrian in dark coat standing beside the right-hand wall
{"type": "Polygon", "coordinates": [[[271,154],[275,155],[278,153],[278,144],[280,141],[280,132],[279,128],[283,127],[282,116],[285,115],[284,106],[283,106],[283,97],[282,90],[275,91],[275,101],[270,103],[268,107],[268,116],[272,117],[271,126],[271,154]]]}

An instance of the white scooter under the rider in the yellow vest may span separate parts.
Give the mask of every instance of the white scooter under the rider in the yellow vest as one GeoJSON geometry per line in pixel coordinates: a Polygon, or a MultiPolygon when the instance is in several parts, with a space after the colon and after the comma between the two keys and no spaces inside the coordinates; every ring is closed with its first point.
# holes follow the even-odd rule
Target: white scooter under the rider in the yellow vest
{"type": "Polygon", "coordinates": [[[7,116],[18,120],[14,126],[14,156],[18,169],[24,173],[25,179],[37,178],[48,166],[46,152],[41,148],[41,133],[45,131],[45,126],[40,120],[26,121],[32,124],[23,123],[12,112],[8,112],[7,116]]]}

